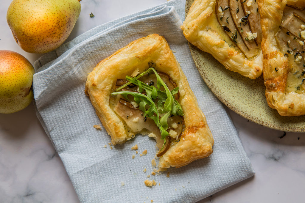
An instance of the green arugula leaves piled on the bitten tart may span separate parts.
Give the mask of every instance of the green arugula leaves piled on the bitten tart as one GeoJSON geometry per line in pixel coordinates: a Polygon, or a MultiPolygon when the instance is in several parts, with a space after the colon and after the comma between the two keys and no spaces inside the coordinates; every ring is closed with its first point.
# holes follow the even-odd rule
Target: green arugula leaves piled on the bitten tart
{"type": "Polygon", "coordinates": [[[120,86],[115,90],[115,93],[111,94],[121,94],[125,98],[127,98],[127,95],[133,96],[135,102],[139,105],[139,109],[144,112],[144,116],[150,117],[160,129],[161,139],[164,140],[164,147],[166,141],[165,138],[169,135],[169,133],[166,131],[168,129],[167,118],[170,116],[170,114],[174,116],[184,115],[180,104],[177,100],[174,99],[174,95],[178,93],[179,87],[176,87],[172,91],[170,91],[154,68],[149,68],[147,71],[135,77],[130,77],[127,75],[126,79],[129,82],[127,82],[123,86],[120,86]],[[154,72],[156,75],[157,88],[154,86],[149,86],[144,82],[138,80],[143,75],[149,74],[151,72],[154,72]],[[120,89],[123,89],[124,87],[130,85],[131,83],[138,86],[139,93],[128,91],[117,92],[120,89]],[[163,86],[164,90],[160,90],[161,86],[163,86]],[[142,94],[143,90],[145,90],[146,95],[142,94]],[[156,98],[158,98],[157,105],[153,101],[156,98]],[[149,105],[148,109],[146,109],[146,105],[149,105]],[[159,116],[159,112],[164,114],[161,118],[159,116]]]}

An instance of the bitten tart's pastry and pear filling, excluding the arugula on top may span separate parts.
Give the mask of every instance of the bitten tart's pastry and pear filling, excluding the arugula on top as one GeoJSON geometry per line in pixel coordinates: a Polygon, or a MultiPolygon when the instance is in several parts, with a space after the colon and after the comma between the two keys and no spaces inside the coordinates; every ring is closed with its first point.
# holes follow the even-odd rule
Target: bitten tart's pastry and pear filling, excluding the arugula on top
{"type": "MultiPolygon", "coordinates": [[[[156,84],[151,75],[143,76],[143,82],[156,84]]],[[[126,86],[126,89],[124,91],[137,91],[134,86],[126,86]]],[[[88,75],[85,93],[114,145],[134,138],[137,133],[155,138],[160,168],[184,166],[213,152],[214,141],[206,118],[167,41],[158,34],[135,40],[99,62],[88,75]],[[126,82],[126,75],[136,76],[150,65],[169,89],[179,87],[175,99],[184,114],[168,118],[169,136],[164,147],[157,125],[143,116],[137,103],[111,94],[126,82]]]]}

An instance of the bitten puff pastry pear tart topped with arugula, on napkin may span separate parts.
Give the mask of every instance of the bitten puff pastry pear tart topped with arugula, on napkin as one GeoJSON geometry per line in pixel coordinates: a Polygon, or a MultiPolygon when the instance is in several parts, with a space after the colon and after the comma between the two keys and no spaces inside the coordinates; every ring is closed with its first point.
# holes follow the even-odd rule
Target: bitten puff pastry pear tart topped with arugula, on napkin
{"type": "Polygon", "coordinates": [[[114,145],[138,133],[156,139],[159,168],[184,166],[213,152],[206,118],[158,34],[99,62],[88,75],[85,93],[114,145]]]}

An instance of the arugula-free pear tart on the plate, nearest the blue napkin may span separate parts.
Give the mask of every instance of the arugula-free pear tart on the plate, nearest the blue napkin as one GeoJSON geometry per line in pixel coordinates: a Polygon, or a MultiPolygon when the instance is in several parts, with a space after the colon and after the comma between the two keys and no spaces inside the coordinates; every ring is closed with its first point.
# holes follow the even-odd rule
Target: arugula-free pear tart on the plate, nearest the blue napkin
{"type": "Polygon", "coordinates": [[[259,22],[256,0],[195,0],[181,29],[227,69],[255,79],[263,69],[259,22]]]}

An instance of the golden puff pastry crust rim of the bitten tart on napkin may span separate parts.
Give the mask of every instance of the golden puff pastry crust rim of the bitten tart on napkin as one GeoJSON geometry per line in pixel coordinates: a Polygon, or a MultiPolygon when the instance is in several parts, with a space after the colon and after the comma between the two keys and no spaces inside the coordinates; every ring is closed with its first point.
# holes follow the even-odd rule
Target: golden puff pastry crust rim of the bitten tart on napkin
{"type": "Polygon", "coordinates": [[[209,156],[213,152],[214,141],[206,118],[167,41],[158,34],[151,34],[131,42],[99,62],[88,75],[85,93],[89,96],[96,114],[111,136],[112,143],[125,142],[135,135],[124,128],[123,120],[110,106],[110,93],[113,86],[117,79],[131,75],[136,68],[139,72],[144,72],[149,68],[149,61],[154,61],[155,69],[168,74],[177,84],[180,92],[178,102],[184,113],[185,131],[180,141],[172,145],[160,157],[159,167],[180,167],[193,160],[209,156]]]}

